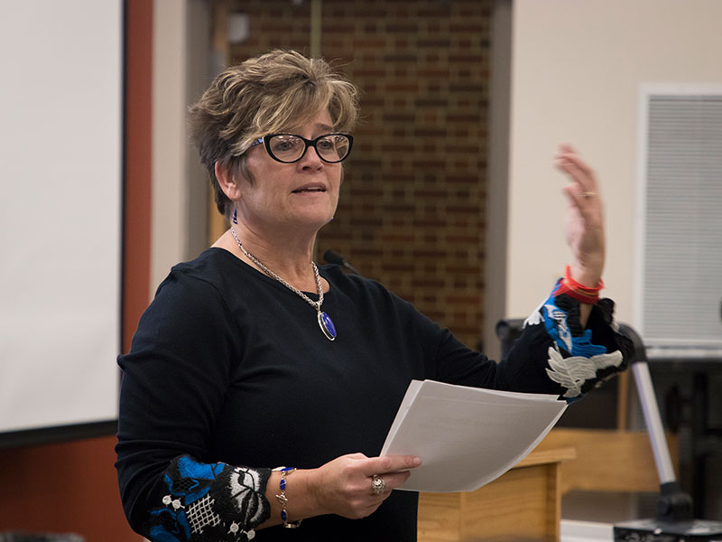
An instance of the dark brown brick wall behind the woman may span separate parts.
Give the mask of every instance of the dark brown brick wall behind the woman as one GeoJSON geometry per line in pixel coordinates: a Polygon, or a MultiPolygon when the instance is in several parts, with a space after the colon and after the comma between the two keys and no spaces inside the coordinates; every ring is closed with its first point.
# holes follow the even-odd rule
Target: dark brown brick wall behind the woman
{"type": "MultiPolygon", "coordinates": [[[[362,122],[335,220],[319,234],[476,346],[484,292],[490,0],[323,3],[321,53],[358,85],[362,122]]],[[[236,0],[233,61],[309,51],[310,2],[236,0]]]]}

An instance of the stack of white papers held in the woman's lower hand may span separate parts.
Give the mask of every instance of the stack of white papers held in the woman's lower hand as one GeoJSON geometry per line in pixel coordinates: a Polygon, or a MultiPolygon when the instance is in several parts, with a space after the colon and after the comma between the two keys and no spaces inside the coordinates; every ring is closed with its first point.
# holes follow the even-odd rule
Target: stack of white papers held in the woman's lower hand
{"type": "Polygon", "coordinates": [[[412,380],[381,455],[418,455],[399,490],[475,491],[519,463],[567,408],[556,395],[412,380]]]}

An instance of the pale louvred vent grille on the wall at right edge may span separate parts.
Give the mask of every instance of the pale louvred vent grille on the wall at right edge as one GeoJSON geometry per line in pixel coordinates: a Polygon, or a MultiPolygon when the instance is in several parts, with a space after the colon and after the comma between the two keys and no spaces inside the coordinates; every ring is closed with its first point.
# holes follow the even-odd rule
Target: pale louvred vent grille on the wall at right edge
{"type": "Polygon", "coordinates": [[[644,341],[722,350],[722,93],[647,98],[644,341]]]}

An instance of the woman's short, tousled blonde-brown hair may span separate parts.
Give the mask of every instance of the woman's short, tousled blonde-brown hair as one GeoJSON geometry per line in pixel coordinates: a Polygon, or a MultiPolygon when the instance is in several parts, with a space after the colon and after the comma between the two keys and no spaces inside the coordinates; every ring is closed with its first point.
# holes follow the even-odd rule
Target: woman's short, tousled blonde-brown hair
{"type": "Polygon", "coordinates": [[[208,169],[216,206],[228,216],[230,200],[218,184],[215,164],[248,173],[245,151],[259,137],[289,130],[328,110],[335,130],[356,124],[358,89],[322,59],[275,50],[231,66],[190,107],[190,136],[208,169]]]}

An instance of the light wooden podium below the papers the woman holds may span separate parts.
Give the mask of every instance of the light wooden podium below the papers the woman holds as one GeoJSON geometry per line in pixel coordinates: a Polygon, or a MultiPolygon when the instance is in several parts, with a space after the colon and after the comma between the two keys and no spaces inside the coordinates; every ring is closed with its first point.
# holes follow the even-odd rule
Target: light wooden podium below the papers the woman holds
{"type": "Polygon", "coordinates": [[[560,539],[560,463],[574,448],[534,451],[477,491],[421,493],[419,542],[560,539]]]}

